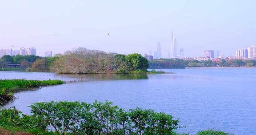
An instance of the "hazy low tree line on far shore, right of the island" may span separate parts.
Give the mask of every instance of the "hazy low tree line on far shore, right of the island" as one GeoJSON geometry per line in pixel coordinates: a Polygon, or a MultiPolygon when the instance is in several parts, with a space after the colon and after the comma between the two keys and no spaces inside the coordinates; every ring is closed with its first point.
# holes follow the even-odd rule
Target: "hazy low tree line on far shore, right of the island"
{"type": "Polygon", "coordinates": [[[185,67],[253,67],[256,60],[182,60],[182,59],[156,59],[149,61],[150,69],[157,68],[185,68],[185,67]]]}

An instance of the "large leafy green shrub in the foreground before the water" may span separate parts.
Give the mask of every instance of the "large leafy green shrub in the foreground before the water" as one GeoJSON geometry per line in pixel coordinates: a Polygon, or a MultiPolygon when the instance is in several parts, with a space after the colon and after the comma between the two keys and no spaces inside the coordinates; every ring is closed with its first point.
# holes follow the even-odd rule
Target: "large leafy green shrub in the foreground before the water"
{"type": "Polygon", "coordinates": [[[42,102],[31,105],[32,117],[57,134],[79,135],[172,135],[178,120],[153,110],[124,111],[112,103],[42,102]]]}

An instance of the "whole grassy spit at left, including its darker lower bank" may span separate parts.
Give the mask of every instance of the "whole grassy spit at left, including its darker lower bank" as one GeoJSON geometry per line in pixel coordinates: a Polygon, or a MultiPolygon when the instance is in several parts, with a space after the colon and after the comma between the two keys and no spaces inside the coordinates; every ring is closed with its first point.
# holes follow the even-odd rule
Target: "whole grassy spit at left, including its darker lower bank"
{"type": "Polygon", "coordinates": [[[14,99],[14,94],[18,92],[42,86],[64,84],[62,80],[25,80],[25,79],[0,79],[0,104],[14,99]]]}

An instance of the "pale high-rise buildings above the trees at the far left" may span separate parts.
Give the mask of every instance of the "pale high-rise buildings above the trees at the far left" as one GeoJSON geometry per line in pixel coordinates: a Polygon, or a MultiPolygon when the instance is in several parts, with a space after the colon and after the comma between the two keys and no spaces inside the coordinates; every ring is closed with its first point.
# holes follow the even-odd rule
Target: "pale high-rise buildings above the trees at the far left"
{"type": "Polygon", "coordinates": [[[9,56],[27,56],[27,55],[36,55],[36,49],[35,48],[20,48],[19,50],[14,49],[0,49],[0,57],[4,55],[9,56]]]}

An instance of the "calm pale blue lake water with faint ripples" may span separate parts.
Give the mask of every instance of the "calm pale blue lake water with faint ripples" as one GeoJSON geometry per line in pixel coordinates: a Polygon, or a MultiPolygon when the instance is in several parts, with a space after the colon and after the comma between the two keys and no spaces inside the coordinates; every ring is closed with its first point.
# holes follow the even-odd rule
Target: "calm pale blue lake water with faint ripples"
{"type": "Polygon", "coordinates": [[[141,107],[180,119],[177,131],[194,135],[216,129],[235,135],[256,135],[256,69],[162,69],[159,75],[57,75],[0,72],[0,79],[62,79],[78,81],[15,93],[16,106],[29,114],[31,103],[42,101],[108,100],[124,109],[141,107]]]}

